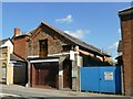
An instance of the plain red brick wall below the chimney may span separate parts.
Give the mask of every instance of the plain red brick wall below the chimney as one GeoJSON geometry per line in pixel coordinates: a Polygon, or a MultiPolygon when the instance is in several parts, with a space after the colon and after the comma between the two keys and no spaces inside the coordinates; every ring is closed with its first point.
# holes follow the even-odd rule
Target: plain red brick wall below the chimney
{"type": "Polygon", "coordinates": [[[17,36],[13,40],[13,51],[16,54],[27,59],[27,40],[25,36],[17,36]]]}

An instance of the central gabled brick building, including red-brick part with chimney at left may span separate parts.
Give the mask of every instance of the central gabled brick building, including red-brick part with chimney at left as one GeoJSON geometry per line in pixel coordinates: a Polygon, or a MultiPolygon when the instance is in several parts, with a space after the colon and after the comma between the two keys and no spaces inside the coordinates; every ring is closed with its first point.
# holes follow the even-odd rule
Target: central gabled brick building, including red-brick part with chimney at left
{"type": "Polygon", "coordinates": [[[89,45],[45,22],[28,34],[16,29],[14,52],[29,62],[31,87],[80,90],[80,66],[110,62],[104,51],[89,45]],[[19,35],[17,35],[19,34],[19,35]]]}

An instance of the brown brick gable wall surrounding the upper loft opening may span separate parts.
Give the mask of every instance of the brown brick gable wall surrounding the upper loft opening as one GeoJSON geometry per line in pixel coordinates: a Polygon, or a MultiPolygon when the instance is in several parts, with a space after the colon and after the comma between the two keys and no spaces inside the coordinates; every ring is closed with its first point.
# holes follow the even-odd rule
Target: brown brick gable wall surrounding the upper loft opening
{"type": "Polygon", "coordinates": [[[33,38],[31,37],[31,41],[28,44],[28,55],[39,55],[39,40],[48,40],[48,54],[57,54],[61,53],[62,45],[69,44],[69,42],[60,36],[54,31],[51,31],[50,29],[43,28],[40,33],[38,33],[33,38]]]}

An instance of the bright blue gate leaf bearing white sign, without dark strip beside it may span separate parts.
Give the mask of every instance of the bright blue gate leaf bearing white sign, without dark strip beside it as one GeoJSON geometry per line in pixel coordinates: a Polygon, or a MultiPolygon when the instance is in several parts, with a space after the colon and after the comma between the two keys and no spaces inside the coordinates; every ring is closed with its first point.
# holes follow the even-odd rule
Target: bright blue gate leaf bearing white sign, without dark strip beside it
{"type": "Polygon", "coordinates": [[[115,94],[115,67],[100,67],[100,92],[115,94]]]}

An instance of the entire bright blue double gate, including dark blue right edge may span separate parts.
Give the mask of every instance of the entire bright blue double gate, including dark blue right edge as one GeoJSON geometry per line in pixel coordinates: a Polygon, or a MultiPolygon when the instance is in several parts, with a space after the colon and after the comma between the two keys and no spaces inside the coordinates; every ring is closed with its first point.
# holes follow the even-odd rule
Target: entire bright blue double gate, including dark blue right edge
{"type": "Polygon", "coordinates": [[[81,90],[121,94],[121,67],[81,67],[81,90]]]}

